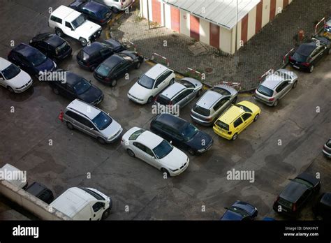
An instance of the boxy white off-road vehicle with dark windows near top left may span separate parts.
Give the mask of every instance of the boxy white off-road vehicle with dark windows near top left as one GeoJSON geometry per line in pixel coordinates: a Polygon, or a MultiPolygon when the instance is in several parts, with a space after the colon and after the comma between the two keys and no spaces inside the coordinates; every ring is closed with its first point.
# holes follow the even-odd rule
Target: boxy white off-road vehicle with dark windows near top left
{"type": "Polygon", "coordinates": [[[79,40],[82,46],[92,42],[101,36],[101,26],[86,19],[82,13],[59,6],[50,14],[48,26],[55,29],[58,36],[71,36],[79,40]]]}

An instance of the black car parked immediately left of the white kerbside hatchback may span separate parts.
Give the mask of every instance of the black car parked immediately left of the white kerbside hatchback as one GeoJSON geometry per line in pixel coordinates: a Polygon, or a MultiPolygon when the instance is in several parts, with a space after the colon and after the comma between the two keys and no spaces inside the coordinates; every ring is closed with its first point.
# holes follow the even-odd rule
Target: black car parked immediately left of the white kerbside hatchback
{"type": "Polygon", "coordinates": [[[144,59],[136,52],[123,51],[105,59],[95,70],[94,78],[114,87],[131,68],[140,68],[144,59]]]}

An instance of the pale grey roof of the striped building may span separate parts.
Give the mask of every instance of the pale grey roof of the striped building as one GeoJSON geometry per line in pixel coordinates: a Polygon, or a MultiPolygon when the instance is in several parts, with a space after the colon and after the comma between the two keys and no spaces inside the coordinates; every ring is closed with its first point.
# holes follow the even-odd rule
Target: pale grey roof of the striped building
{"type": "Polygon", "coordinates": [[[260,0],[162,0],[176,8],[201,17],[226,29],[236,25],[238,1],[238,22],[247,15],[260,0]]]}

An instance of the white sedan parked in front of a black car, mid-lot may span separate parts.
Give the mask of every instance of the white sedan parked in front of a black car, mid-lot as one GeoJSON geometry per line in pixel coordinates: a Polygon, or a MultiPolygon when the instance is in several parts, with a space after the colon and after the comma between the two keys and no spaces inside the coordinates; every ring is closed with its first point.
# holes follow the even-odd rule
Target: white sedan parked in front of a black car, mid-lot
{"type": "Polygon", "coordinates": [[[182,173],[189,166],[189,157],[168,141],[150,131],[133,127],[122,137],[122,146],[131,157],[137,157],[168,176],[182,173]]]}

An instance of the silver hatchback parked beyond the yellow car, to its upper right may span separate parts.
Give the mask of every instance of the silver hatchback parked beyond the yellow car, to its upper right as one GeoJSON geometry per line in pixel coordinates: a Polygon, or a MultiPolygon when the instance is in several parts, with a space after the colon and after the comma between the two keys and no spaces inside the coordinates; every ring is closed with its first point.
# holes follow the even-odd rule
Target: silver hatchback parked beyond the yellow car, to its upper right
{"type": "Polygon", "coordinates": [[[258,85],[254,98],[270,106],[277,106],[291,89],[297,87],[297,75],[286,69],[279,69],[267,75],[267,78],[258,85]]]}

